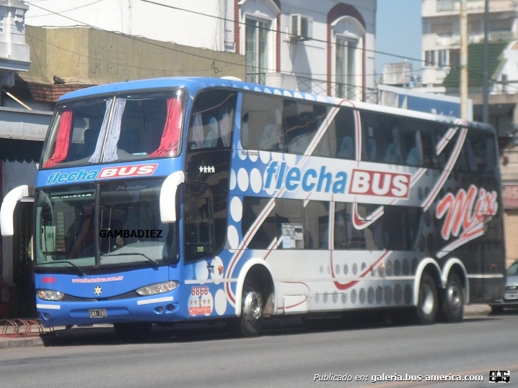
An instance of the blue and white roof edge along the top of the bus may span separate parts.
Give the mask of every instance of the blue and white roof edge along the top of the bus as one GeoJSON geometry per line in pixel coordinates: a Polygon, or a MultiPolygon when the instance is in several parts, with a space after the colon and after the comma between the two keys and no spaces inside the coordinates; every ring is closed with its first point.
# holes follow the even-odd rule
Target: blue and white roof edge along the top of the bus
{"type": "MultiPolygon", "coordinates": [[[[369,104],[361,101],[351,101],[347,99],[340,99],[337,97],[329,97],[323,95],[314,95],[311,93],[299,92],[294,90],[287,90],[276,88],[274,86],[265,86],[258,84],[249,84],[236,79],[226,78],[211,78],[211,77],[163,77],[151,79],[139,79],[136,81],[118,82],[115,84],[106,84],[100,86],[92,86],[74,92],[66,93],[59,98],[59,102],[64,102],[69,99],[77,99],[81,97],[94,97],[96,95],[113,95],[124,92],[135,92],[137,90],[153,90],[160,88],[187,88],[191,93],[195,94],[198,90],[203,88],[236,88],[241,90],[251,90],[259,93],[268,93],[283,97],[293,97],[297,99],[305,99],[307,101],[318,101],[325,104],[350,106],[365,110],[373,110],[376,112],[388,113],[392,115],[402,115],[407,117],[414,117],[416,119],[428,119],[433,121],[444,122],[447,124],[463,124],[463,120],[458,117],[434,115],[432,113],[419,112],[417,110],[408,110],[402,108],[394,108],[392,106],[383,106],[376,104],[369,104]]],[[[494,131],[492,126],[482,124],[479,122],[466,122],[471,126],[477,128],[494,131]]]]}

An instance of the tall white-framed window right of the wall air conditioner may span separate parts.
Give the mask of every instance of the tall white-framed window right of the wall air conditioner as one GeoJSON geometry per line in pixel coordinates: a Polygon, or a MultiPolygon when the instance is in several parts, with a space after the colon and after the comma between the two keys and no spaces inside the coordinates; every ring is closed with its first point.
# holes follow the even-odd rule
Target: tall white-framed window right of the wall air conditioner
{"type": "Polygon", "coordinates": [[[357,49],[357,39],[336,37],[336,97],[347,99],[356,97],[357,49]]]}

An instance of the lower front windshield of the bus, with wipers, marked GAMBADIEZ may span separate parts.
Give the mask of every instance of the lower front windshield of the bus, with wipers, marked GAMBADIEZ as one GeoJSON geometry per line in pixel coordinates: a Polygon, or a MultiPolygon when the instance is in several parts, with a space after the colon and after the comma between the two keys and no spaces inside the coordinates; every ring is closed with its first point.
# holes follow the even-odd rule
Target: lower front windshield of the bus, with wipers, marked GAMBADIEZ
{"type": "Polygon", "coordinates": [[[161,184],[117,180],[39,191],[37,266],[156,266],[175,260],[175,224],[160,221],[161,184]]]}

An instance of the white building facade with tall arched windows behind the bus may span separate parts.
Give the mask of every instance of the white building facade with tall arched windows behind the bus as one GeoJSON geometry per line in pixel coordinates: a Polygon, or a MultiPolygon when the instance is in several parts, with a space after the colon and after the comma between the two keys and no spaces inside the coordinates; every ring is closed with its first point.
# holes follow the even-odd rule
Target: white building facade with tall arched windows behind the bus
{"type": "MultiPolygon", "coordinates": [[[[50,0],[26,16],[30,26],[82,25],[231,52],[242,56],[247,81],[356,100],[374,90],[375,21],[375,0],[50,0]]],[[[171,75],[219,77],[229,65],[216,59],[171,75]]]]}

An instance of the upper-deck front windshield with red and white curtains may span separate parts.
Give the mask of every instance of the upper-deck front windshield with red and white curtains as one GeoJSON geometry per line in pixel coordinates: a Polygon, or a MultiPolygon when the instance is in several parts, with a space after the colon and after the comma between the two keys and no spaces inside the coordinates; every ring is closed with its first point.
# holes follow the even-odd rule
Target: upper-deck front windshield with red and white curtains
{"type": "Polygon", "coordinates": [[[44,168],[176,155],[183,95],[176,89],[62,104],[51,125],[44,168]]]}

